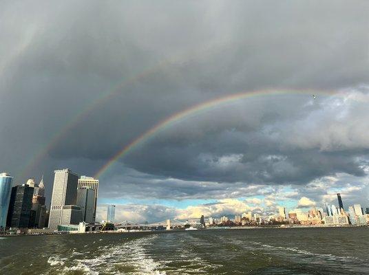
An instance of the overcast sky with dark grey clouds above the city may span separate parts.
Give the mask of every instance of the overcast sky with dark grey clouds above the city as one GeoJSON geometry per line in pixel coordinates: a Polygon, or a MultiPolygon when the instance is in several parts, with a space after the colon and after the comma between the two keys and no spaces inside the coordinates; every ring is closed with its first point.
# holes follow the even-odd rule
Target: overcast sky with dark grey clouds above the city
{"type": "Polygon", "coordinates": [[[369,207],[368,1],[2,1],[0,170],[100,177],[98,218],[369,207]],[[324,91],[333,91],[326,94],[324,91]],[[103,98],[101,100],[101,98],[103,98]],[[52,142],[54,140],[54,142],[52,142]],[[47,150],[43,149],[47,148],[47,150]]]}

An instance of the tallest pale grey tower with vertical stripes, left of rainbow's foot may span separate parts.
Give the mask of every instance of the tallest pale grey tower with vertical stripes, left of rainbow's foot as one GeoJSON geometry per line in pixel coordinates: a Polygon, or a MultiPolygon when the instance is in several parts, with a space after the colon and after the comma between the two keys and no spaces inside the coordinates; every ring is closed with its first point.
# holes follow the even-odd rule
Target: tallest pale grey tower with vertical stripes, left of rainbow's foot
{"type": "Polygon", "coordinates": [[[81,215],[81,208],[78,210],[78,207],[72,207],[76,206],[77,201],[78,175],[70,169],[54,170],[54,174],[49,228],[56,230],[60,224],[70,224],[70,222],[67,222],[67,217],[72,217],[74,221],[78,211],[81,215]],[[64,211],[68,213],[63,215],[64,211]]]}

